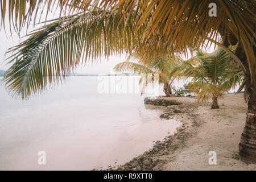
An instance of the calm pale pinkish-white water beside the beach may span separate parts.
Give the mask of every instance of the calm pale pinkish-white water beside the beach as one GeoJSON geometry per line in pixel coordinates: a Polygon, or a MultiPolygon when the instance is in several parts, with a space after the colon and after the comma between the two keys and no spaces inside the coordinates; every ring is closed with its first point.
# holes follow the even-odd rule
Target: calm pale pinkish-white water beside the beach
{"type": "Polygon", "coordinates": [[[163,111],[145,106],[145,96],[137,78],[70,77],[27,101],[11,98],[2,84],[0,169],[86,170],[129,161],[179,126],[160,120],[163,111]],[[46,165],[38,164],[39,151],[46,165]]]}

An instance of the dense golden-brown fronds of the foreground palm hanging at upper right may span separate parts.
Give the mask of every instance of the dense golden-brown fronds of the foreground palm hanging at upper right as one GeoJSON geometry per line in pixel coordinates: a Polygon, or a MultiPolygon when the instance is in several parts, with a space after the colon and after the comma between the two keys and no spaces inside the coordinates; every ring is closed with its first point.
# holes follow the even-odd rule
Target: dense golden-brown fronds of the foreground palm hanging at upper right
{"type": "MultiPolygon", "coordinates": [[[[150,52],[157,52],[158,48],[166,48],[168,51],[186,53],[188,48],[199,48],[207,43],[209,38],[217,42],[220,32],[225,37],[231,31],[245,50],[251,84],[256,88],[255,1],[214,0],[212,2],[218,7],[217,17],[208,15],[209,1],[201,0],[122,0],[116,7],[125,13],[137,9],[141,15],[138,17],[138,27],[150,18],[141,43],[143,49],[150,52]]],[[[213,42],[210,40],[210,43],[213,42]]]]}

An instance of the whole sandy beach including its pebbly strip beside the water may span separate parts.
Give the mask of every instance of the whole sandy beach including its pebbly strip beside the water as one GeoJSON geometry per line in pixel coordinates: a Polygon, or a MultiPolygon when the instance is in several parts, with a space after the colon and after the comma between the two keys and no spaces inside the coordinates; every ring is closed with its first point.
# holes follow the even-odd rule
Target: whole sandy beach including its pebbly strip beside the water
{"type": "Polygon", "coordinates": [[[243,93],[226,94],[215,110],[210,102],[200,104],[195,97],[170,99],[183,104],[156,108],[164,107],[167,118],[183,123],[178,132],[118,170],[256,170],[255,164],[247,165],[238,156],[247,111],[243,93]],[[216,151],[216,165],[208,162],[210,151],[216,151]]]}

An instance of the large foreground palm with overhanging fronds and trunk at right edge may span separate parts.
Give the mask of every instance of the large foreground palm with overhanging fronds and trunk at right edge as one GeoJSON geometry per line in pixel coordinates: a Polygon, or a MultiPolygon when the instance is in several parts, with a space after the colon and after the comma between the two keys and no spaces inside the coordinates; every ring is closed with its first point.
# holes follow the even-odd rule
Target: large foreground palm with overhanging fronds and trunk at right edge
{"type": "Polygon", "coordinates": [[[9,14],[10,26],[19,32],[34,19],[39,7],[47,11],[59,7],[72,17],[47,23],[41,30],[32,32],[30,38],[16,47],[18,49],[13,49],[16,51],[11,61],[13,67],[7,72],[5,80],[14,94],[27,98],[32,93],[46,89],[47,83],[55,81],[46,78],[46,75],[55,72],[59,78],[60,72],[67,72],[77,65],[83,52],[92,58],[123,51],[154,56],[159,49],[166,49],[168,53],[187,54],[188,49],[200,48],[208,42],[215,43],[229,53],[245,74],[241,88],[245,88],[248,111],[239,153],[243,162],[256,163],[254,0],[27,2],[29,3],[26,4],[25,0],[13,0],[7,3],[6,0],[1,0],[3,27],[6,25],[5,15],[9,14]],[[208,15],[209,3],[216,3],[217,17],[208,15]],[[77,17],[81,17],[80,23],[79,20],[73,22],[75,13],[78,14],[77,17]],[[86,38],[81,38],[81,35],[86,35],[86,38]],[[222,37],[223,43],[217,42],[218,36],[222,37]],[[70,45],[75,46],[73,48],[70,45]],[[233,52],[229,47],[234,45],[237,48],[233,52]],[[32,63],[28,59],[33,60],[32,63]]]}

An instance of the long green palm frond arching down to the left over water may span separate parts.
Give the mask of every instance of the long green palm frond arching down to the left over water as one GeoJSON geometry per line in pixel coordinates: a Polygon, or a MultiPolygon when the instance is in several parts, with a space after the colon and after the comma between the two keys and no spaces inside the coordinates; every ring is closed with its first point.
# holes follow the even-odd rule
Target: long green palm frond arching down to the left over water
{"type": "MultiPolygon", "coordinates": [[[[9,50],[13,64],[4,77],[11,94],[28,98],[65,78],[77,65],[100,56],[129,52],[134,32],[120,17],[102,11],[53,20],[9,50]],[[106,23],[108,18],[108,23],[106,23]],[[125,37],[123,35],[126,35],[125,37]]],[[[131,23],[131,22],[130,22],[131,23]]],[[[129,24],[129,22],[126,22],[129,24]]]]}

